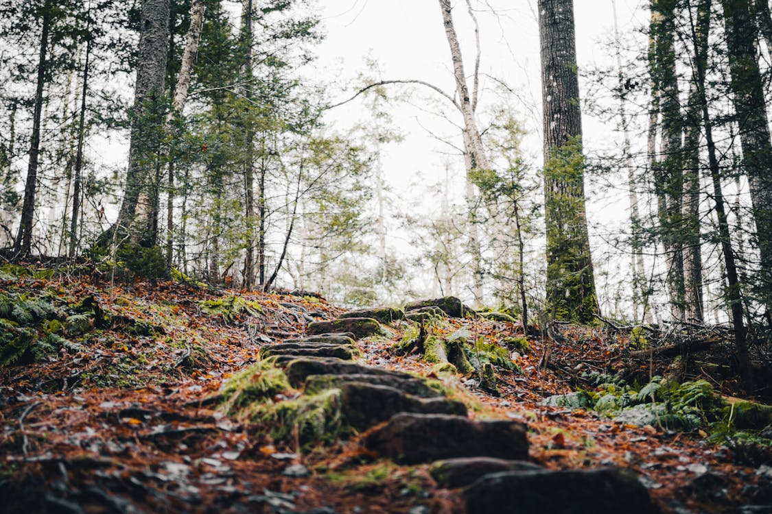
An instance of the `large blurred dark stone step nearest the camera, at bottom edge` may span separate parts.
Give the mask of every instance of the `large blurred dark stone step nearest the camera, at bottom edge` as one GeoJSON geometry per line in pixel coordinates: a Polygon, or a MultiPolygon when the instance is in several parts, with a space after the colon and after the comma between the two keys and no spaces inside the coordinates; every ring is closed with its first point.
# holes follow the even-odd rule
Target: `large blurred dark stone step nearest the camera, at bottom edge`
{"type": "Polygon", "coordinates": [[[616,468],[591,471],[502,472],[486,475],[463,492],[466,512],[499,514],[649,514],[652,499],[635,474],[616,468]]]}

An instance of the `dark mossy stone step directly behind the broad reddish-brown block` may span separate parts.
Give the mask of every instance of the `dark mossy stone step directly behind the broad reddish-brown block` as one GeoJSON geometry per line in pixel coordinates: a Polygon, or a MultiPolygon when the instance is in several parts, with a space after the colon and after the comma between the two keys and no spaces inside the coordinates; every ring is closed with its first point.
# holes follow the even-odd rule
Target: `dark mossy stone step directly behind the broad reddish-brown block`
{"type": "Polygon", "coordinates": [[[340,386],[341,412],[348,425],[364,430],[400,412],[466,416],[466,405],[447,398],[418,398],[388,385],[348,382],[340,386]]]}

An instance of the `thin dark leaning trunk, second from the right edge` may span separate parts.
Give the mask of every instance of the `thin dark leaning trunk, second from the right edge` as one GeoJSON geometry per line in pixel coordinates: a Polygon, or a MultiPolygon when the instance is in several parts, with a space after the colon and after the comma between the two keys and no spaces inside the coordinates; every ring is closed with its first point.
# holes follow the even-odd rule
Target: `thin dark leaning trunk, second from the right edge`
{"type": "Polygon", "coordinates": [[[746,340],[745,324],[743,322],[743,295],[740,289],[740,280],[737,275],[737,267],[732,250],[732,241],[730,239],[730,226],[726,217],[726,207],[723,200],[723,190],[721,187],[721,169],[716,153],[716,144],[713,140],[713,123],[710,119],[708,109],[708,99],[706,93],[706,69],[707,54],[703,52],[704,46],[700,47],[702,38],[707,39],[710,29],[710,6],[711,0],[699,0],[697,7],[696,23],[692,18],[692,8],[687,0],[689,8],[689,18],[692,29],[692,43],[694,45],[693,69],[696,71],[694,82],[696,82],[696,91],[699,95],[699,102],[703,114],[703,123],[705,129],[705,139],[708,146],[708,163],[710,168],[710,177],[713,182],[713,200],[716,204],[716,217],[718,218],[719,236],[721,239],[721,250],[726,264],[726,281],[729,287],[726,288],[726,299],[730,304],[732,324],[734,328],[734,343],[737,354],[737,361],[740,364],[740,374],[746,385],[747,392],[753,392],[753,368],[750,365],[750,354],[746,340]]]}

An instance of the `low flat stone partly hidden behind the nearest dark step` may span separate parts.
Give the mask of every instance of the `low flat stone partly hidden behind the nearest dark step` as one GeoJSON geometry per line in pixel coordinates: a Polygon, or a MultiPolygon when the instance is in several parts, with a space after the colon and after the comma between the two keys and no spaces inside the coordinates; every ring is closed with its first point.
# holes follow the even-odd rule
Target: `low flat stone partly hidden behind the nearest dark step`
{"type": "Polygon", "coordinates": [[[483,475],[503,471],[539,471],[540,465],[525,461],[506,461],[492,457],[467,457],[438,461],[429,468],[437,485],[445,489],[466,487],[483,475]]]}

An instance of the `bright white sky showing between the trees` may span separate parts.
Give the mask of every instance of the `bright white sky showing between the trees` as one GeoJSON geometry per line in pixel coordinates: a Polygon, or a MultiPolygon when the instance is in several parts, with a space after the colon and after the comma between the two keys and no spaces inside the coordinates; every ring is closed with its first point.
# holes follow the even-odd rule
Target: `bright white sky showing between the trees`
{"type": "MultiPolygon", "coordinates": [[[[646,39],[636,30],[648,16],[645,0],[616,0],[618,22],[623,45],[645,48],[646,39]]],[[[540,115],[540,65],[539,31],[536,0],[472,0],[479,8],[477,16],[481,25],[482,73],[503,80],[516,91],[510,102],[516,106],[529,135],[526,149],[532,162],[540,165],[541,115],[540,115]],[[493,11],[496,14],[493,14],[493,11]]],[[[318,48],[319,60],[310,72],[311,79],[320,82],[334,80],[338,89],[331,96],[342,101],[362,85],[357,75],[364,71],[367,55],[374,58],[382,72],[382,79],[421,79],[431,82],[452,94],[454,82],[450,54],[438,0],[319,0],[327,39],[318,48]]],[[[580,74],[582,70],[598,66],[616,66],[613,48],[614,15],[612,0],[575,0],[574,11],[577,29],[577,54],[580,74]]],[[[455,0],[453,16],[456,31],[465,52],[467,74],[472,72],[474,61],[473,25],[467,14],[466,2],[455,0]]],[[[495,82],[482,78],[482,97],[479,113],[485,106],[500,102],[494,91],[495,82]]],[[[581,96],[586,100],[593,84],[581,79],[581,96]]],[[[392,96],[398,96],[402,86],[390,86],[392,96]]],[[[432,109],[428,102],[442,100],[422,86],[412,88],[415,95],[410,102],[395,102],[392,114],[394,123],[405,133],[405,141],[388,147],[384,156],[384,169],[394,196],[401,200],[410,197],[424,199],[421,205],[431,212],[438,208],[439,200],[426,201],[428,185],[445,176],[445,162],[449,146],[434,139],[429,131],[447,136],[459,143],[459,130],[447,120],[432,116],[425,109],[432,109]],[[423,110],[422,110],[423,109],[423,110]],[[420,173],[423,187],[415,186],[420,173]],[[411,187],[408,185],[414,184],[411,187]],[[435,207],[435,209],[432,209],[435,207]]],[[[615,102],[613,99],[606,101],[615,102]]],[[[460,116],[448,111],[452,121],[460,122],[460,116]]],[[[355,100],[330,112],[329,119],[339,129],[346,129],[357,120],[367,119],[364,103],[355,100]]],[[[588,153],[621,146],[621,136],[615,126],[584,115],[584,141],[588,153]]],[[[463,168],[460,156],[453,160],[455,192],[462,201],[463,168]]],[[[421,182],[418,182],[421,184],[421,182]]],[[[628,219],[626,194],[621,190],[613,198],[608,191],[587,184],[590,199],[588,216],[598,222],[591,227],[593,255],[600,274],[608,273],[611,281],[625,280],[628,273],[626,258],[608,260],[608,253],[616,253],[604,243],[608,233],[614,233],[628,219]],[[601,197],[602,195],[602,197],[601,197]],[[602,200],[599,200],[602,198],[602,200]],[[618,269],[618,267],[621,267],[618,269]],[[616,279],[616,280],[615,280],[616,279]]],[[[624,187],[625,184],[619,184],[624,187]]],[[[405,208],[403,206],[402,208],[405,208]]],[[[394,232],[400,247],[400,235],[394,232]]],[[[621,257],[621,256],[620,256],[621,257]]],[[[627,278],[629,281],[629,279],[627,278]]],[[[603,286],[598,284],[601,289],[603,286]]],[[[602,294],[602,293],[601,293],[602,294]]]]}

